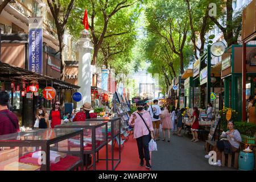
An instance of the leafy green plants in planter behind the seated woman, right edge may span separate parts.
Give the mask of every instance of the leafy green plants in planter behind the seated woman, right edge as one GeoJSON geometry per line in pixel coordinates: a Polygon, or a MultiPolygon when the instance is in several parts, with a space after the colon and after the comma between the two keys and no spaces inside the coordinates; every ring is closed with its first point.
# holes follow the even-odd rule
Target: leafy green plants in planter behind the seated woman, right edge
{"type": "Polygon", "coordinates": [[[256,125],[247,122],[235,122],[235,129],[240,131],[242,142],[255,144],[256,125]]]}

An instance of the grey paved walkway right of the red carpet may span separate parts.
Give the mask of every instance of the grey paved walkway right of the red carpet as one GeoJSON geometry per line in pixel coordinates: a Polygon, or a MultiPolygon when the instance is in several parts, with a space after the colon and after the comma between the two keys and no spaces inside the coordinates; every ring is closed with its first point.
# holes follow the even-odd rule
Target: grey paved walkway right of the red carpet
{"type": "MultiPolygon", "coordinates": [[[[183,133],[183,131],[181,131],[183,133]]],[[[160,135],[162,136],[162,134],[160,135]]],[[[171,142],[159,140],[158,151],[152,152],[152,170],[175,171],[230,171],[234,168],[212,166],[204,158],[204,143],[191,142],[187,135],[171,135],[171,142]]]]}

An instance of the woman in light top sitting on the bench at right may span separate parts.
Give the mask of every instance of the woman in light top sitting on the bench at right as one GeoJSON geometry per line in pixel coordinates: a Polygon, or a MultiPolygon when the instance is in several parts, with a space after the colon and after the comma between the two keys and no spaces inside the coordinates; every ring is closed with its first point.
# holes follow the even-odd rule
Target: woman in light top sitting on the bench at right
{"type": "MultiPolygon", "coordinates": [[[[221,166],[221,152],[227,149],[226,146],[230,146],[228,151],[237,152],[240,147],[240,142],[242,142],[241,135],[238,130],[234,130],[234,123],[232,121],[228,122],[228,131],[221,134],[222,138],[227,138],[225,141],[228,145],[224,144],[224,140],[217,142],[217,145],[213,147],[213,150],[217,153],[217,163],[213,163],[213,166],[221,166]]],[[[205,155],[205,158],[209,159],[211,155],[205,155]]]]}

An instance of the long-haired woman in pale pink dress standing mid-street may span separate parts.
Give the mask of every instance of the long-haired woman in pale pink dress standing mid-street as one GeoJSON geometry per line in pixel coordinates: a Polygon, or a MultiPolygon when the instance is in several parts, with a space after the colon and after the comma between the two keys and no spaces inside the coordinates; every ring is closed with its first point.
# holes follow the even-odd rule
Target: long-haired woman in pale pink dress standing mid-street
{"type": "Polygon", "coordinates": [[[166,106],[163,111],[163,119],[162,119],[162,130],[163,130],[163,141],[166,140],[166,132],[168,133],[168,142],[171,140],[171,129],[172,129],[172,121],[171,121],[171,107],[166,106]]]}

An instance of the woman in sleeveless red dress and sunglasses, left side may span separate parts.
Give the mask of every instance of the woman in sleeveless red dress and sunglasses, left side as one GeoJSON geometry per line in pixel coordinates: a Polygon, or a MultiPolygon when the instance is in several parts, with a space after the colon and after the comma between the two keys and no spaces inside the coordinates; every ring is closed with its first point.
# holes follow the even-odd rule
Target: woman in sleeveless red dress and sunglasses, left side
{"type": "Polygon", "coordinates": [[[55,101],[52,110],[49,113],[49,123],[51,128],[54,129],[56,125],[63,123],[63,111],[60,109],[60,102],[55,101]]]}

